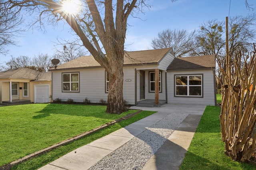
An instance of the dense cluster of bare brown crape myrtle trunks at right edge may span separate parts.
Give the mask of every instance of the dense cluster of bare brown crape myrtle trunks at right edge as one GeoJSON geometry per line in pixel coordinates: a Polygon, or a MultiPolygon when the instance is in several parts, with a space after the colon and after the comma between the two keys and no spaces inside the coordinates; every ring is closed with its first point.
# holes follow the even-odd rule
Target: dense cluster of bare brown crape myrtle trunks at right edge
{"type": "Polygon", "coordinates": [[[220,126],[225,153],[245,162],[255,152],[256,131],[256,49],[245,53],[242,46],[226,57],[222,74],[220,126]]]}

